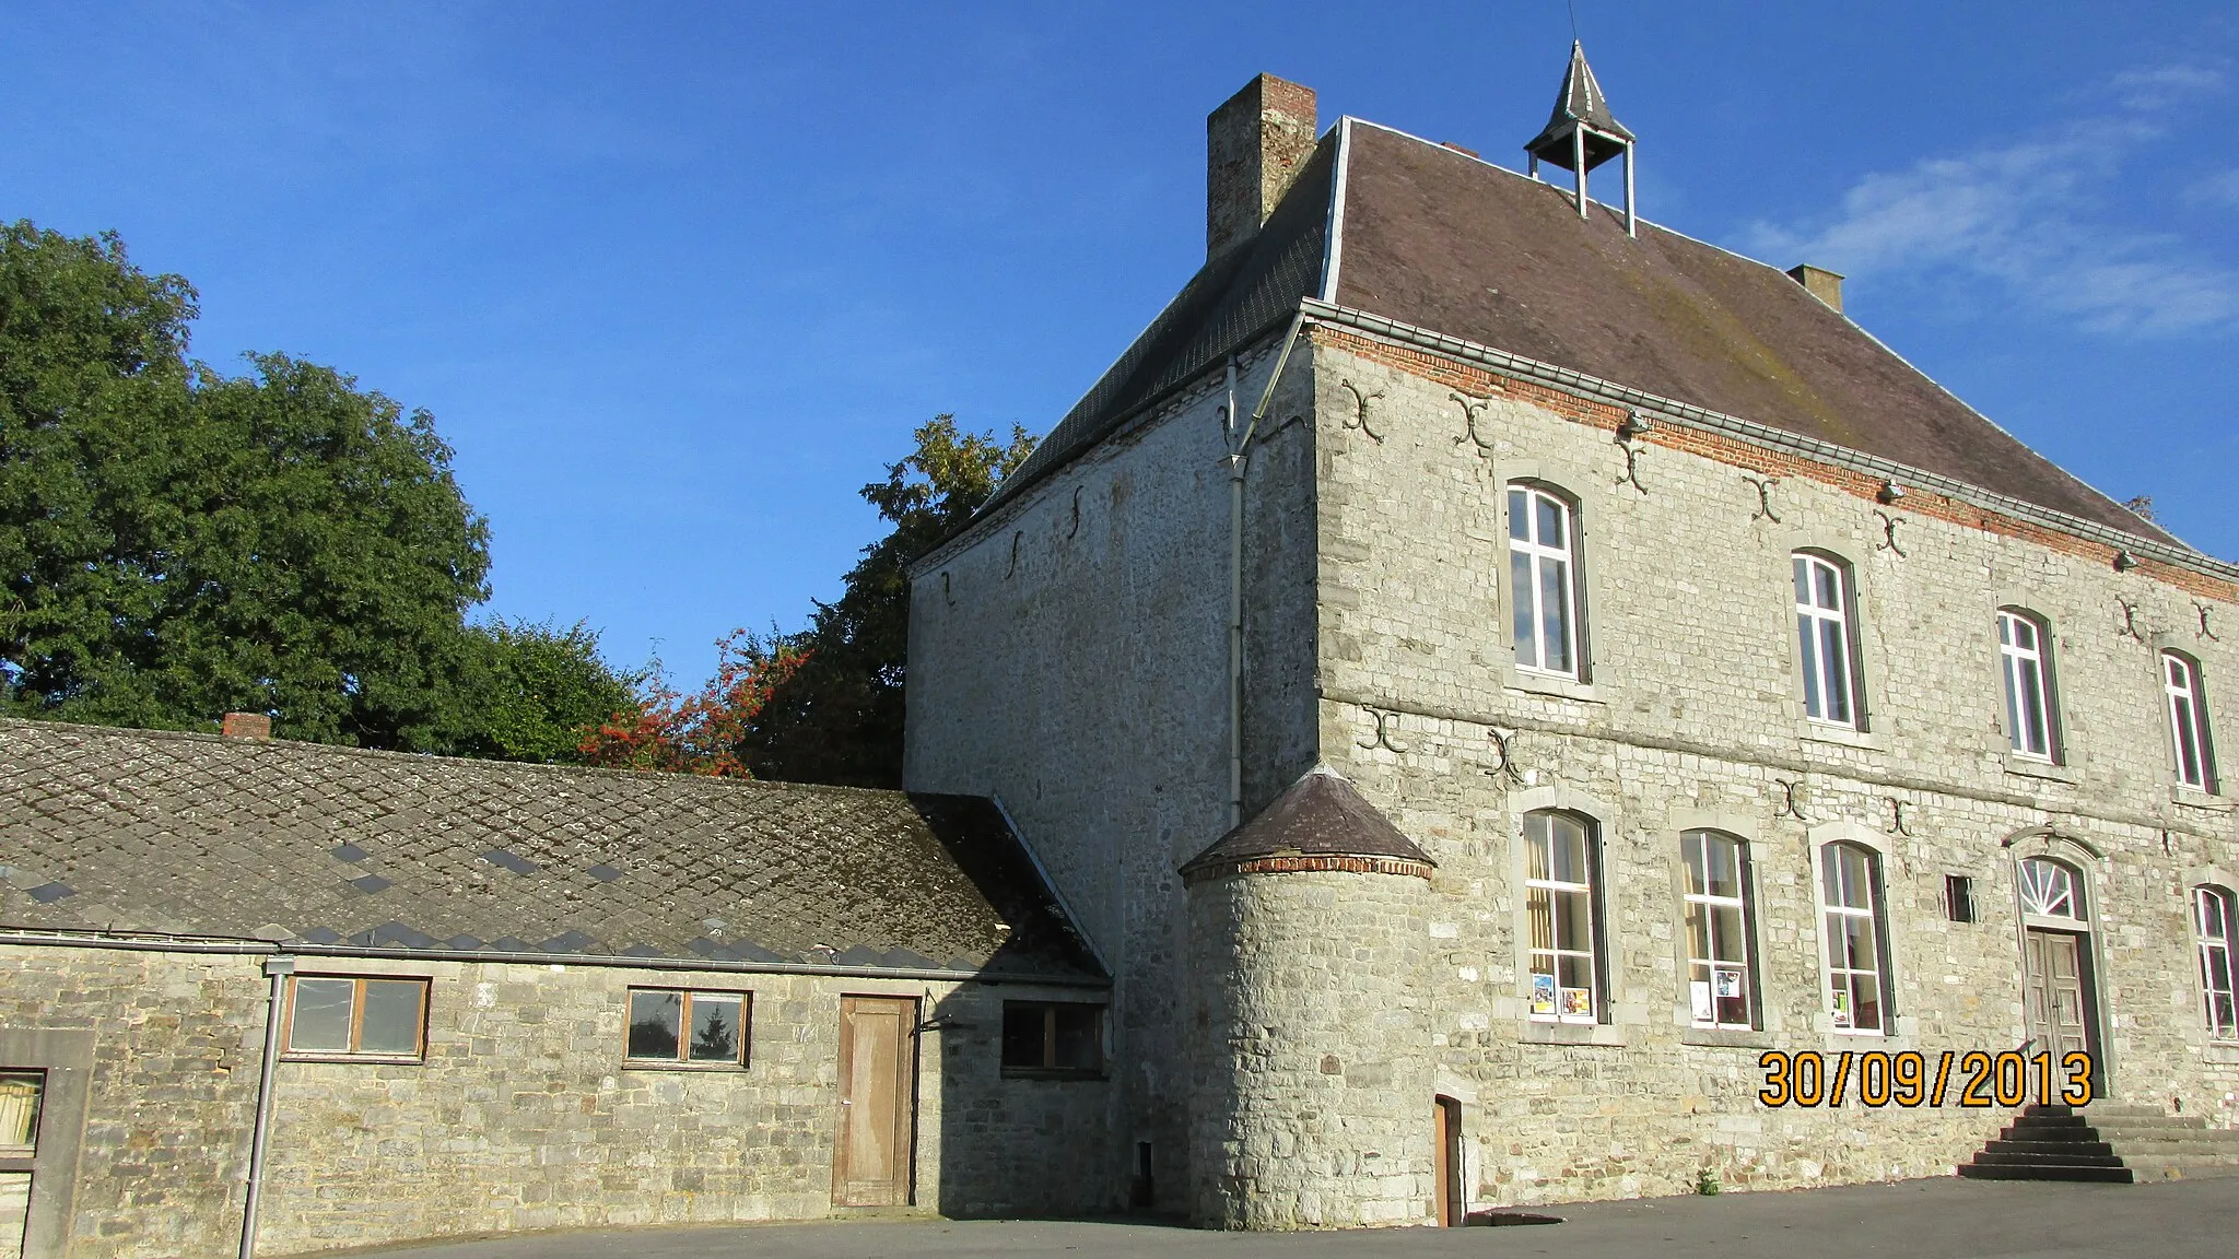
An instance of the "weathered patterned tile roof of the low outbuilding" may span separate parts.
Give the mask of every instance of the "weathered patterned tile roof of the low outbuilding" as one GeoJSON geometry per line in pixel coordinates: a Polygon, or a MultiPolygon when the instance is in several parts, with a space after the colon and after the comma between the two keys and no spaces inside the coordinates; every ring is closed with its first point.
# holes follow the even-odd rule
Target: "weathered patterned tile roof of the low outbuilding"
{"type": "Polygon", "coordinates": [[[31,930],[1099,972],[967,795],[0,721],[0,865],[31,930]]]}

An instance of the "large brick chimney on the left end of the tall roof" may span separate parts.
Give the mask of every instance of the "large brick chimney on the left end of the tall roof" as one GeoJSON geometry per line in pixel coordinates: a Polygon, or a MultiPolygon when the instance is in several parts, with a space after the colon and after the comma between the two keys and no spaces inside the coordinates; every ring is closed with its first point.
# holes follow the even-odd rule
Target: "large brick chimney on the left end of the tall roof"
{"type": "Polygon", "coordinates": [[[1205,116],[1205,258],[1249,244],[1314,152],[1314,90],[1272,74],[1205,116]]]}

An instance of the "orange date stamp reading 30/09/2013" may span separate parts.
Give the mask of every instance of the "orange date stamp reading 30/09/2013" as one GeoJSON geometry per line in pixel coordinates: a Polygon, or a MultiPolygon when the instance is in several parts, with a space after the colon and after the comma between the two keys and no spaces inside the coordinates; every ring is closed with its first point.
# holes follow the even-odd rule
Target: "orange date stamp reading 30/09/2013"
{"type": "Polygon", "coordinates": [[[1818,1053],[1811,1048],[1758,1055],[1767,1107],[2082,1107],[2098,1095],[2098,1066],[2089,1053],[1818,1053]]]}

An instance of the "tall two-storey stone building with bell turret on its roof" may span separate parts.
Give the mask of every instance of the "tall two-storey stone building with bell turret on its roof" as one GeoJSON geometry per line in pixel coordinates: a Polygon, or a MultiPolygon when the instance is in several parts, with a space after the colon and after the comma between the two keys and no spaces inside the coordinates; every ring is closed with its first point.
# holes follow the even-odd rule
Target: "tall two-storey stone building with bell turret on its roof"
{"type": "Polygon", "coordinates": [[[2011,1109],[1764,1104],[1767,1053],[2082,1051],[2232,1127],[2239,567],[1840,276],[1641,220],[1576,49],[1563,184],[1265,76],[1209,155],[1205,267],[911,598],[907,784],[1079,912],[1160,1210],[2011,1165],[2011,1109]]]}

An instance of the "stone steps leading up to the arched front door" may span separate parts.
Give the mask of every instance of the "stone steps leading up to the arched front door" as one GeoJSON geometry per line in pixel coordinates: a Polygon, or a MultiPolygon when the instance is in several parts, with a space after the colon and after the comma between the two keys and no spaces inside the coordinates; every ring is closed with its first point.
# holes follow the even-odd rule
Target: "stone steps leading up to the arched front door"
{"type": "Polygon", "coordinates": [[[1959,1167],[1973,1181],[2192,1181],[2239,1176],[2239,1131],[2158,1107],[2024,1107],[1959,1167]]]}

